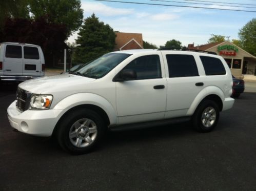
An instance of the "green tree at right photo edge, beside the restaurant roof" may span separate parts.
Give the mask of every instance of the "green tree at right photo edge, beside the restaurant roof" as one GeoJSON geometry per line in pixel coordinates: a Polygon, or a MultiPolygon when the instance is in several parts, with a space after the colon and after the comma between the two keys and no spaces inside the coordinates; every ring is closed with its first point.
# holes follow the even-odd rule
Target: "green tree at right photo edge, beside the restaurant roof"
{"type": "Polygon", "coordinates": [[[242,48],[256,56],[256,18],[252,18],[240,29],[238,35],[242,48]]]}

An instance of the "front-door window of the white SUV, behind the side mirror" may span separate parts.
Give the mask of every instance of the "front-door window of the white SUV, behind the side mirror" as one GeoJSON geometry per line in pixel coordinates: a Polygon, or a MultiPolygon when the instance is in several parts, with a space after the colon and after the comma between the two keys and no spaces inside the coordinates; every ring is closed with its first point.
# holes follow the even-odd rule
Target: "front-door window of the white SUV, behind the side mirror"
{"type": "Polygon", "coordinates": [[[137,79],[161,78],[159,55],[141,56],[132,60],[123,70],[135,70],[137,79]]]}

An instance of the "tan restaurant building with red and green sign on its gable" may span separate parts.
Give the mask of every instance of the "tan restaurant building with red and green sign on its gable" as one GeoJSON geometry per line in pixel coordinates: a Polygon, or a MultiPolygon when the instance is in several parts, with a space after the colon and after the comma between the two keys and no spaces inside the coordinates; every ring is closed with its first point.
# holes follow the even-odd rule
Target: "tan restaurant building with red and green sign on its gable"
{"type": "Polygon", "coordinates": [[[243,74],[256,75],[256,56],[251,55],[230,41],[201,46],[190,44],[188,49],[210,51],[221,55],[235,77],[240,78],[243,74]]]}

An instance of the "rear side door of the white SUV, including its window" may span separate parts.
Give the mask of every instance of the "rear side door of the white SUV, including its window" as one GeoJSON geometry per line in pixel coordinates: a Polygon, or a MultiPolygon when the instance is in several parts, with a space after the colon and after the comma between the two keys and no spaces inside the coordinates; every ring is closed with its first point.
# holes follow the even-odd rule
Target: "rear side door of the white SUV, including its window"
{"type": "Polygon", "coordinates": [[[193,54],[163,53],[167,79],[167,103],[165,118],[181,117],[187,114],[193,100],[205,87],[203,69],[196,65],[193,54]]]}

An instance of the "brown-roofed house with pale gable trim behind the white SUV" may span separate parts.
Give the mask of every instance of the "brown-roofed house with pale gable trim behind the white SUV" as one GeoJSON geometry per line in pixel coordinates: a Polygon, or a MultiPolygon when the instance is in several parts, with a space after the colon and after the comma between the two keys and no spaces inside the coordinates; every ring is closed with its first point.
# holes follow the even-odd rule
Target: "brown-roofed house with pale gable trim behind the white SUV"
{"type": "Polygon", "coordinates": [[[143,39],[141,33],[115,32],[114,50],[143,49],[143,39]]]}

